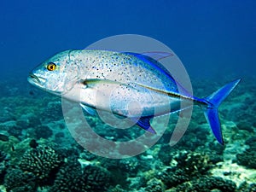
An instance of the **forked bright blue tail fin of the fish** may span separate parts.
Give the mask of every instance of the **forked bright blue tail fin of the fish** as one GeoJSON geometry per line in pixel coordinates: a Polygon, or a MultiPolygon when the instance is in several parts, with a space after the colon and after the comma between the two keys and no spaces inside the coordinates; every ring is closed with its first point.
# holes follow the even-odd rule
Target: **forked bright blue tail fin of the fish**
{"type": "Polygon", "coordinates": [[[214,137],[218,140],[218,143],[224,144],[223,136],[221,132],[221,126],[218,118],[218,106],[224,99],[230,95],[230,92],[234,90],[236,85],[241,81],[237,79],[229,84],[225,84],[222,88],[218,89],[211,96],[207,96],[204,100],[207,102],[207,108],[205,109],[205,116],[212,129],[214,137]]]}

